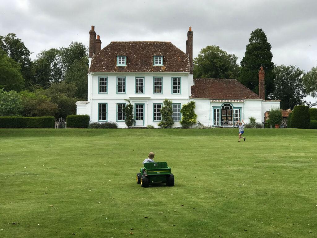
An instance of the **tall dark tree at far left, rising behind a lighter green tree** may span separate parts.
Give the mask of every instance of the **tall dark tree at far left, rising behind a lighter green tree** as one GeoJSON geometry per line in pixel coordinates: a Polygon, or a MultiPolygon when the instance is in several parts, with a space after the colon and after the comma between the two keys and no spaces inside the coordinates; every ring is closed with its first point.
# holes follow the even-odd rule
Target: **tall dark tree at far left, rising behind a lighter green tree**
{"type": "Polygon", "coordinates": [[[30,54],[32,53],[24,45],[22,39],[17,38],[14,33],[0,36],[0,48],[15,62],[21,65],[21,73],[24,78],[25,87],[30,88],[34,80],[33,63],[30,59],[30,54]]]}

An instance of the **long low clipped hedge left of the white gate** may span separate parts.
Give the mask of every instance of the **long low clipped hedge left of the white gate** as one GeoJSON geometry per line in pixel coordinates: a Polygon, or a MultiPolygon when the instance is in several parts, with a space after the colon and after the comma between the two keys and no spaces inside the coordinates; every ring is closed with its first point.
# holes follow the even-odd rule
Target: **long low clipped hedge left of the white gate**
{"type": "Polygon", "coordinates": [[[0,128],[54,128],[54,116],[0,116],[0,128]]]}

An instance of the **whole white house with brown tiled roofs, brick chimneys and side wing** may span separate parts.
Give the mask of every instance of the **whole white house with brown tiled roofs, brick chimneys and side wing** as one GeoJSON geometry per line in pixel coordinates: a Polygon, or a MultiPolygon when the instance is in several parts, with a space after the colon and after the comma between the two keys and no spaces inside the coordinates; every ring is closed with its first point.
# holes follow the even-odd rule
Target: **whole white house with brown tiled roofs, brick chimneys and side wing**
{"type": "Polygon", "coordinates": [[[88,100],[77,101],[77,114],[87,114],[90,122],[117,122],[126,127],[126,100],[134,106],[135,127],[154,125],[161,120],[165,98],[173,102],[174,127],[180,127],[180,109],[196,102],[198,120],[221,126],[253,116],[264,122],[264,113],[280,101],[265,101],[264,70],[259,71],[258,96],[236,80],[193,79],[191,27],[186,53],[171,42],[110,42],[101,50],[94,26],[89,31],[88,100]],[[261,89],[260,89],[261,88],[261,89]]]}

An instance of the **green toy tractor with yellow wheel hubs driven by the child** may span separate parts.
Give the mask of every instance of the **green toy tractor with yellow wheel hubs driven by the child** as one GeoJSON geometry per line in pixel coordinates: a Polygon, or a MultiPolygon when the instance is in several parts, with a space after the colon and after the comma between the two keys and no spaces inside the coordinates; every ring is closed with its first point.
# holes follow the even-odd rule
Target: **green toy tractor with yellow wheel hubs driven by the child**
{"type": "Polygon", "coordinates": [[[137,184],[147,188],[151,183],[162,182],[166,186],[174,186],[174,175],[166,162],[145,163],[144,168],[137,173],[137,184]]]}

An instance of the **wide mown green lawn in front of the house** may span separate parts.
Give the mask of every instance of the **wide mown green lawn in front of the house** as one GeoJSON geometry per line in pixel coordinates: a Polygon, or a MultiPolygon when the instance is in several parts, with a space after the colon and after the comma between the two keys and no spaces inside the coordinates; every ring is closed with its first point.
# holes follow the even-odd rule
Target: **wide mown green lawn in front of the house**
{"type": "Polygon", "coordinates": [[[317,130],[245,131],[0,129],[0,237],[317,237],[317,130]]]}

